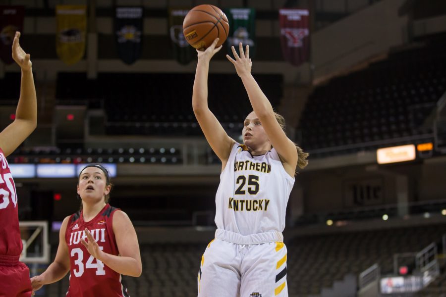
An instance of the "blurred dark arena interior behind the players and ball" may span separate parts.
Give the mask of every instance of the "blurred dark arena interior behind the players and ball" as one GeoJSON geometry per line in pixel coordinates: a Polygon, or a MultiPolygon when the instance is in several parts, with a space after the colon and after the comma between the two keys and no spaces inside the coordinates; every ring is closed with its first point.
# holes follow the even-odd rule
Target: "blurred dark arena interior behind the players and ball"
{"type": "MultiPolygon", "coordinates": [[[[192,297],[214,237],[221,163],[191,106],[188,9],[209,3],[230,32],[209,105],[237,141],[251,111],[224,57],[243,42],[252,73],[310,153],[284,231],[290,297],[446,296],[446,1],[0,0],[0,126],[15,118],[31,53],[38,127],[7,159],[32,274],[76,212],[82,164],[104,163],[111,205],[138,233],[130,296],[192,297]]],[[[64,296],[68,276],[38,296],[64,296]]]]}

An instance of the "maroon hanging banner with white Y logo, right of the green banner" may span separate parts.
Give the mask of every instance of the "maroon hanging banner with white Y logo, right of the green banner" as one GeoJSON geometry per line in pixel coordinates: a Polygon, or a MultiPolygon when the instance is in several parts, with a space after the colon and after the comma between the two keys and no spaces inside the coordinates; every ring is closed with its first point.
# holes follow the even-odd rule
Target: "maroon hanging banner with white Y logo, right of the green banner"
{"type": "Polygon", "coordinates": [[[283,57],[299,66],[310,59],[310,13],[307,9],[279,10],[280,44],[283,57]]]}

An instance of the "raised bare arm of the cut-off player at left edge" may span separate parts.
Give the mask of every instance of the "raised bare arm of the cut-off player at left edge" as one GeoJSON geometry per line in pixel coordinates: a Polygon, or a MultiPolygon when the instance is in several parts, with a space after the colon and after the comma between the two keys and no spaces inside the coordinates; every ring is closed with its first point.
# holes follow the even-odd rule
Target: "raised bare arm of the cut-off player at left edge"
{"type": "Polygon", "coordinates": [[[15,33],[12,43],[12,58],[20,66],[22,78],[20,99],[15,111],[15,120],[0,133],[0,148],[5,156],[12,153],[37,126],[37,96],[30,54],[19,44],[20,32],[15,33]]]}

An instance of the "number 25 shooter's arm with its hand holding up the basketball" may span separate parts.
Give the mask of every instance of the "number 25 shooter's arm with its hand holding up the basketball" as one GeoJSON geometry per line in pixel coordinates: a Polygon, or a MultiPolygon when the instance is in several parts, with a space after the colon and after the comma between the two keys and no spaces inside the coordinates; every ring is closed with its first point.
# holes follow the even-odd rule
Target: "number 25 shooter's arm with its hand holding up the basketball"
{"type": "Polygon", "coordinates": [[[224,168],[235,141],[226,134],[222,125],[208,106],[209,62],[212,56],[222,49],[222,46],[217,49],[215,48],[217,42],[218,39],[205,51],[197,50],[198,63],[192,93],[192,107],[206,140],[222,161],[224,168]]]}

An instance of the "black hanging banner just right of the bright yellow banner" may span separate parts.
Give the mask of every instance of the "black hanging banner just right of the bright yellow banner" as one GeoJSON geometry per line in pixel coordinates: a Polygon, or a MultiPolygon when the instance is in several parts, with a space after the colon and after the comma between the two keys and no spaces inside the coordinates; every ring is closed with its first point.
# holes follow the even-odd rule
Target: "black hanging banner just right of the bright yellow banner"
{"type": "Polygon", "coordinates": [[[116,48],[124,63],[132,64],[141,56],[142,30],[142,7],[116,7],[114,18],[116,48]]]}

